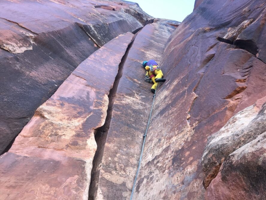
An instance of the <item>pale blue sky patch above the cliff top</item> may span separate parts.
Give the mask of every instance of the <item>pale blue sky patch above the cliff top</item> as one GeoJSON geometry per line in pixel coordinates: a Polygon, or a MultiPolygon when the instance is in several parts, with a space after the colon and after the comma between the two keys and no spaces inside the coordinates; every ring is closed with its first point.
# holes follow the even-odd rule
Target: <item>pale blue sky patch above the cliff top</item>
{"type": "Polygon", "coordinates": [[[136,2],[147,14],[182,22],[192,13],[195,0],[129,0],[136,2]]]}

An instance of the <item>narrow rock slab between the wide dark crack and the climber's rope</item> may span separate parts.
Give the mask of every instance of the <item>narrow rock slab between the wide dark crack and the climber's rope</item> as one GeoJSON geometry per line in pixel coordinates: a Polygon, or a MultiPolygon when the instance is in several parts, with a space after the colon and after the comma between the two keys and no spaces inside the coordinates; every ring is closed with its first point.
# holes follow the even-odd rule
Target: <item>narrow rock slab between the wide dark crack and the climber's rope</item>
{"type": "Polygon", "coordinates": [[[155,59],[161,63],[167,39],[176,28],[170,24],[178,23],[155,19],[146,25],[124,58],[109,130],[96,135],[100,149],[93,168],[92,199],[130,198],[153,99],[152,84],[144,81],[142,62],[155,59]]]}

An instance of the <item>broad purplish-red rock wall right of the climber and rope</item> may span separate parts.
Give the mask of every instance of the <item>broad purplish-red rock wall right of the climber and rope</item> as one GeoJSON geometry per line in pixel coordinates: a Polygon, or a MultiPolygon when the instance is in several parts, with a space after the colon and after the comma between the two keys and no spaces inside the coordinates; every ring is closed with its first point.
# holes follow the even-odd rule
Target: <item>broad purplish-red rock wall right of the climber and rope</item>
{"type": "MultiPolygon", "coordinates": [[[[245,184],[257,184],[257,193],[262,192],[258,197],[265,197],[261,173],[251,176],[255,182],[241,180],[255,173],[256,166],[265,170],[263,139],[250,148],[253,158],[243,153],[238,160],[241,149],[235,152],[223,164],[218,174],[221,179],[211,183],[213,189],[202,184],[209,169],[205,171],[201,163],[208,136],[266,95],[265,8],[262,0],[202,1],[171,35],[161,65],[167,81],[159,86],[156,96],[135,199],[224,199],[217,189],[229,182],[235,191],[237,182],[243,190],[245,184]],[[230,179],[232,170],[237,166],[244,169],[249,159],[254,165],[236,171],[236,179],[230,179]]],[[[255,187],[249,189],[256,194],[255,187]]],[[[229,187],[224,191],[228,198],[229,187]]]]}

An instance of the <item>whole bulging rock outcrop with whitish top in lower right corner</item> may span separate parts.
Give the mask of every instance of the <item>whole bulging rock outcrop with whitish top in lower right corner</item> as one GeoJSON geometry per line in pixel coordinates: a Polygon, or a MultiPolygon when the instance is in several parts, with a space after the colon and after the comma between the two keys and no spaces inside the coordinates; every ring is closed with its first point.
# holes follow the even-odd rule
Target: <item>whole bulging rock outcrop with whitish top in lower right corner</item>
{"type": "Polygon", "coordinates": [[[202,156],[206,199],[265,199],[266,104],[258,107],[240,111],[208,138],[202,156]]]}

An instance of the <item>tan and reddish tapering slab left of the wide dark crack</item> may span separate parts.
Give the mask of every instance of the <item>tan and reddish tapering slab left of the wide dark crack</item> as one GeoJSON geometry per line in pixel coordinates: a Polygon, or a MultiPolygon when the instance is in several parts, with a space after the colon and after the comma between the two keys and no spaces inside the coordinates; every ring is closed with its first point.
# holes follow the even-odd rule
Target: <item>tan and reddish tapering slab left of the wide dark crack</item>
{"type": "Polygon", "coordinates": [[[37,109],[1,156],[1,198],[88,199],[94,132],[105,123],[108,94],[133,36],[94,52],[37,109]]]}

